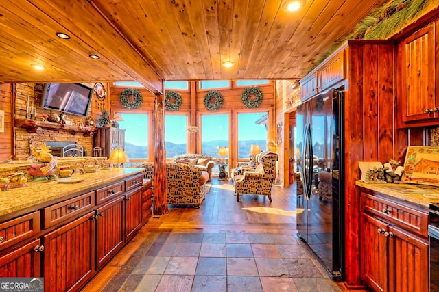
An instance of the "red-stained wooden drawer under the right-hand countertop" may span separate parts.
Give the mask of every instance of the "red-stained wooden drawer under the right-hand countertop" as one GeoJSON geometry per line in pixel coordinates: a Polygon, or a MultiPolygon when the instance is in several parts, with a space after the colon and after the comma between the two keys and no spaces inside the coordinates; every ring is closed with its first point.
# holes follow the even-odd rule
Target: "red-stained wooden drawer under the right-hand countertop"
{"type": "Polygon", "coordinates": [[[400,226],[422,237],[428,236],[427,213],[405,207],[401,204],[389,202],[388,200],[377,198],[376,196],[363,192],[361,192],[361,201],[364,211],[373,213],[394,226],[400,226]]]}

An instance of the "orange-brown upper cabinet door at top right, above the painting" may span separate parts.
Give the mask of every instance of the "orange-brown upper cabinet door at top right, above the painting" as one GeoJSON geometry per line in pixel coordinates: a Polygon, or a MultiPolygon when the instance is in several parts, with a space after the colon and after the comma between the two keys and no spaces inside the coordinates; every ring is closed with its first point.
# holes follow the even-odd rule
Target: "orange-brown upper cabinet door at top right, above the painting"
{"type": "Polygon", "coordinates": [[[426,109],[439,107],[435,94],[434,25],[420,29],[401,42],[401,107],[403,122],[436,118],[426,109]]]}

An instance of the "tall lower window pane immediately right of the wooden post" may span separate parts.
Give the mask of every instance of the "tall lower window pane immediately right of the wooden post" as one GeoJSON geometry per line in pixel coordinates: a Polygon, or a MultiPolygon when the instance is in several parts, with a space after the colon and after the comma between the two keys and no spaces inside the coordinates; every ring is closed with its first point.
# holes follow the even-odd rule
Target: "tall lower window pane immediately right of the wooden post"
{"type": "Polygon", "coordinates": [[[165,115],[166,157],[187,153],[187,115],[165,115]]]}

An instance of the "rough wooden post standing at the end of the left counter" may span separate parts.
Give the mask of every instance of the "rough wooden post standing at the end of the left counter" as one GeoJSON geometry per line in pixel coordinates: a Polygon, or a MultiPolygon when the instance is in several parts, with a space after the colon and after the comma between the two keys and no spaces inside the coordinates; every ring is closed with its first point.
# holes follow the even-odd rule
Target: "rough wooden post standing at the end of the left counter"
{"type": "Polygon", "coordinates": [[[156,94],[154,99],[154,207],[156,215],[167,214],[167,172],[165,148],[165,99],[156,94]]]}

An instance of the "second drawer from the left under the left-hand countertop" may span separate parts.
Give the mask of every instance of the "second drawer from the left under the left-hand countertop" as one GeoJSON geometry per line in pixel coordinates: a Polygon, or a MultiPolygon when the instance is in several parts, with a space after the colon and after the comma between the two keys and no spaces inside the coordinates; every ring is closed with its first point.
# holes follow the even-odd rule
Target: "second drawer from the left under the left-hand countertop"
{"type": "Polygon", "coordinates": [[[82,211],[90,210],[95,206],[95,192],[90,191],[70,200],[43,209],[43,229],[54,226],[67,220],[82,211]]]}

